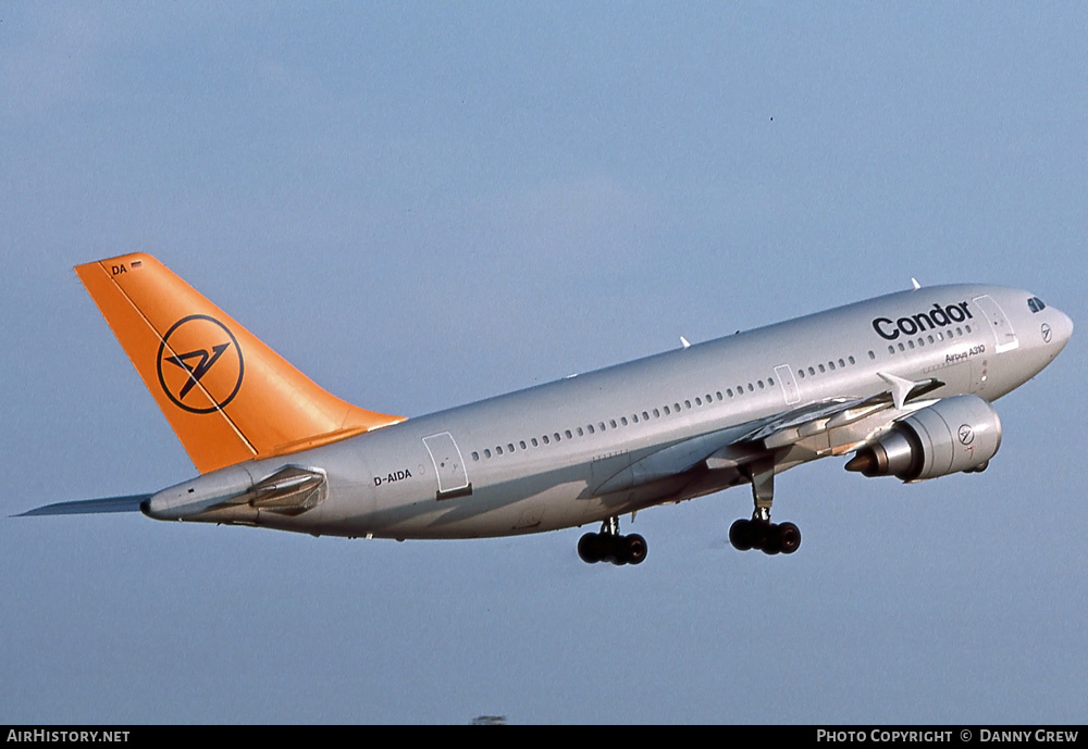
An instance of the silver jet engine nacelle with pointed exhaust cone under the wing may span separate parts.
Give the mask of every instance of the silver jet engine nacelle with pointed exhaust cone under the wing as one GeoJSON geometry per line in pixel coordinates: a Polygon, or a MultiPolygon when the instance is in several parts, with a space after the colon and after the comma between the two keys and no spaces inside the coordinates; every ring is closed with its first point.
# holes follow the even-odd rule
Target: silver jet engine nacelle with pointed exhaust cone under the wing
{"type": "Polygon", "coordinates": [[[945,398],[895,422],[858,450],[848,471],[904,482],[985,467],[1001,446],[997,411],[978,396],[945,398]]]}

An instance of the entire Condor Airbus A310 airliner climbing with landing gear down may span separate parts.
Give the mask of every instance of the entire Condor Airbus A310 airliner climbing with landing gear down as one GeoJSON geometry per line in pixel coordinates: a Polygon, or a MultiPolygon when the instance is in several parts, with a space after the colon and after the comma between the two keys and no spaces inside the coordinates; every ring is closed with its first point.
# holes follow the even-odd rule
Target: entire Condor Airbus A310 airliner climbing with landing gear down
{"type": "Polygon", "coordinates": [[[738,550],[793,553],[770,520],[775,476],[849,457],[867,477],[979,473],[1001,442],[991,403],[1073,334],[1028,292],[952,285],[890,294],[405,419],[330,395],[145,253],[76,273],[196,465],[150,495],[25,515],[156,520],[314,536],[426,539],[599,523],[590,563],[639,564],[621,516],[746,485],[738,550]]]}

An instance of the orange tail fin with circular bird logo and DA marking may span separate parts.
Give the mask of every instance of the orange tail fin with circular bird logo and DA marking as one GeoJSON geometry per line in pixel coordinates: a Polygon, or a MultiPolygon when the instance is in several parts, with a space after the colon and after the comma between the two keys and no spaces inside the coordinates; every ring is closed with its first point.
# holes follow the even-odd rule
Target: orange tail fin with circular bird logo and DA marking
{"type": "Polygon", "coordinates": [[[200,473],[404,421],[322,390],[149,254],[75,271],[200,473]]]}

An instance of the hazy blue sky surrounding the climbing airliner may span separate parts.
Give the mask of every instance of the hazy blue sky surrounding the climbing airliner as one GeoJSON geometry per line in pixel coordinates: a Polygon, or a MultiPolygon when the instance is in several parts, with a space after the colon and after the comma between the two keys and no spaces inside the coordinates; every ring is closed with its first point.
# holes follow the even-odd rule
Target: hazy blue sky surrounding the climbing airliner
{"type": "Polygon", "coordinates": [[[195,470],[72,266],[159,257],[408,416],[923,284],[1084,327],[1076,3],[0,4],[0,720],[1080,722],[1083,330],[981,475],[581,532],[8,519],[195,470]]]}

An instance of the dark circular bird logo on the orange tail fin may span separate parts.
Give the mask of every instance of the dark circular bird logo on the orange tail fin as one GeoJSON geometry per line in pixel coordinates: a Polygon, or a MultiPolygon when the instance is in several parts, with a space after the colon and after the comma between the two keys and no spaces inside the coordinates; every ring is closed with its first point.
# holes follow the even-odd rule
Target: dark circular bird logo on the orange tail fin
{"type": "Polygon", "coordinates": [[[238,395],[245,362],[238,339],[214,317],[193,314],[174,323],[162,337],[157,363],[159,385],[166,397],[189,413],[213,413],[238,395]],[[214,341],[214,342],[212,342],[214,341]],[[205,398],[186,396],[194,390],[205,398]],[[207,405],[211,401],[212,405],[207,405]]]}

